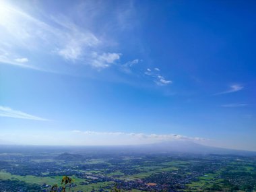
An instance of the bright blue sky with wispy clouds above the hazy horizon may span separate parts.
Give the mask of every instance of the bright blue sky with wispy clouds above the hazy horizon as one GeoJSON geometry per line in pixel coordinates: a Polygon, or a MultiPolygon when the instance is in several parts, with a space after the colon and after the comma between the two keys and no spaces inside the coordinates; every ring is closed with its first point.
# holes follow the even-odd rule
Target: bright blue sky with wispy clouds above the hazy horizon
{"type": "Polygon", "coordinates": [[[253,1],[0,1],[0,143],[256,150],[253,1]]]}

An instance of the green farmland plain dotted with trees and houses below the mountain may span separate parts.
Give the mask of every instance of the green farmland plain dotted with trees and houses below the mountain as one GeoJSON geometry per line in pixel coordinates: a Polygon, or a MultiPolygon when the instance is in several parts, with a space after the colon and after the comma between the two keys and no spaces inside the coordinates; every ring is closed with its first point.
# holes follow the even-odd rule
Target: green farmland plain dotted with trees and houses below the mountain
{"type": "Polygon", "coordinates": [[[26,150],[0,154],[0,191],[255,191],[255,156],[26,150]],[[47,153],[46,153],[47,151],[47,153]],[[36,189],[34,189],[37,187],[36,189]]]}

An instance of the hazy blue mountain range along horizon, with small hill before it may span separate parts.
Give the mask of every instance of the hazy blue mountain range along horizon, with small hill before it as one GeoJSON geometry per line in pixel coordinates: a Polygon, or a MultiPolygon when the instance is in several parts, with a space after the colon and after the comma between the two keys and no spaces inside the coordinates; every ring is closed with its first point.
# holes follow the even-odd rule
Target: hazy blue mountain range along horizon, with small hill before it
{"type": "Polygon", "coordinates": [[[230,150],[224,148],[214,148],[203,146],[193,141],[165,141],[162,143],[152,143],[134,146],[18,146],[18,145],[1,145],[0,152],[62,152],[59,159],[83,159],[79,152],[94,152],[94,153],[182,153],[182,154],[220,154],[220,155],[241,155],[241,156],[256,156],[256,152],[244,150],[230,150]],[[68,152],[68,153],[65,153],[68,152]],[[69,154],[70,153],[70,154],[69,154]]]}

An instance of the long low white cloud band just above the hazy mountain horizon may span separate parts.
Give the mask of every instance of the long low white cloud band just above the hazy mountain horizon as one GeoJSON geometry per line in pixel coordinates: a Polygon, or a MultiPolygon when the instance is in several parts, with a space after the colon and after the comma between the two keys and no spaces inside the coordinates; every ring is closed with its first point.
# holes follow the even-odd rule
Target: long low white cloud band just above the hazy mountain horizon
{"type": "Polygon", "coordinates": [[[146,134],[146,133],[124,133],[106,131],[58,131],[55,129],[30,131],[14,131],[4,133],[2,138],[21,144],[34,145],[63,145],[67,146],[119,146],[160,143],[164,141],[193,141],[195,143],[207,143],[210,139],[201,137],[187,137],[176,134],[146,134]],[[45,134],[47,132],[47,134],[45,134]],[[59,135],[59,137],[56,137],[59,135]]]}

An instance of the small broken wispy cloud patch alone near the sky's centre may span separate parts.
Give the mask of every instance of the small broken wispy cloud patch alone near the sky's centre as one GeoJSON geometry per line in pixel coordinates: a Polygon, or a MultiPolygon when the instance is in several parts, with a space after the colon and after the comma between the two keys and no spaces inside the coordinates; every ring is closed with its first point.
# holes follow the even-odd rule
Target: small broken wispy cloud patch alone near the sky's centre
{"type": "Polygon", "coordinates": [[[154,82],[158,85],[158,86],[166,86],[168,84],[172,84],[171,80],[166,79],[164,76],[160,75],[160,69],[158,68],[154,68],[154,70],[152,69],[147,69],[144,72],[145,75],[148,75],[150,77],[153,78],[154,82]]]}

